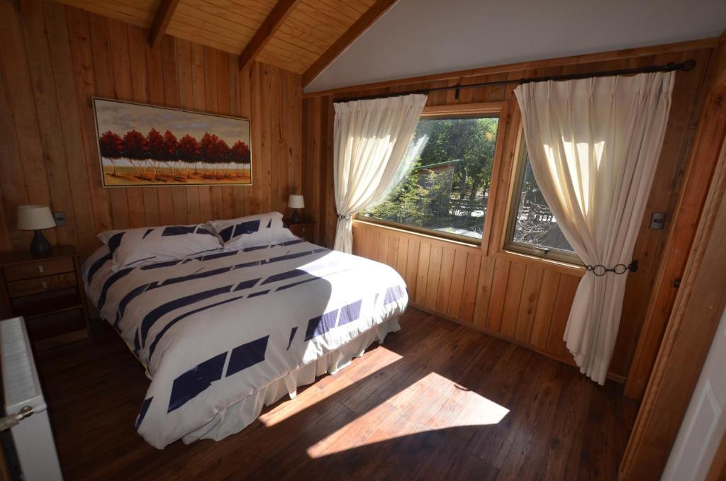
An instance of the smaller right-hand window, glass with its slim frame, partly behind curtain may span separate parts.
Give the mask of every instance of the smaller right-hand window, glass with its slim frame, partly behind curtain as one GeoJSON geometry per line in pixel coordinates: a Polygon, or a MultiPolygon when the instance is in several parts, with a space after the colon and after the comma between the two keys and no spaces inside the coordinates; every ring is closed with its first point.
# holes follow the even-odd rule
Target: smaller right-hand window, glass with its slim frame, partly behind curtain
{"type": "Polygon", "coordinates": [[[523,135],[519,146],[513,195],[515,197],[512,199],[505,248],[524,254],[580,263],[562,234],[557,219],[544,201],[537,181],[534,180],[523,135]]]}

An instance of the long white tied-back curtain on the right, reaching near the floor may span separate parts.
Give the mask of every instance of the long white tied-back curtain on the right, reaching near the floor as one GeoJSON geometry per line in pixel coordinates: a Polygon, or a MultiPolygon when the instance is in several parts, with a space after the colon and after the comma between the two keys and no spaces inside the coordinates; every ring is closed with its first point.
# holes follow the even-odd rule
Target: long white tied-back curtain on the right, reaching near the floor
{"type": "MultiPolygon", "coordinates": [[[[673,82],[672,72],[644,73],[515,89],[534,177],[586,265],[613,268],[632,260],[673,82]]],[[[567,321],[568,350],[582,373],[600,384],[615,347],[626,279],[588,271],[567,321]]]]}

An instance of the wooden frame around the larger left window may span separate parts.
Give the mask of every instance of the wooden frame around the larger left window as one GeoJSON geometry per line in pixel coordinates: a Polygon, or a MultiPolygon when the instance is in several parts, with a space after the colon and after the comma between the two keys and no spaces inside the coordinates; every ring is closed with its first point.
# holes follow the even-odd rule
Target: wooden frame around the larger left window
{"type": "Polygon", "coordinates": [[[489,245],[489,243],[491,242],[490,234],[492,230],[492,216],[494,215],[492,192],[494,192],[495,182],[498,181],[496,176],[498,172],[499,161],[502,157],[502,149],[504,148],[505,123],[507,119],[507,102],[475,102],[470,104],[427,105],[426,107],[424,107],[419,120],[423,118],[471,118],[480,115],[482,117],[489,115],[499,118],[499,124],[497,126],[497,143],[494,144],[494,156],[492,157],[492,179],[490,181],[489,187],[489,202],[486,206],[486,213],[484,213],[484,226],[482,226],[481,239],[462,236],[460,234],[453,234],[452,232],[426,229],[425,227],[412,226],[406,223],[386,221],[385,219],[378,219],[375,217],[366,217],[358,214],[354,216],[354,222],[360,221],[373,223],[380,226],[386,226],[393,229],[407,231],[411,234],[435,237],[436,239],[441,239],[445,241],[460,242],[462,244],[468,244],[471,247],[478,247],[482,249],[486,248],[486,246],[489,245]],[[485,239],[486,242],[484,242],[485,239]]]}

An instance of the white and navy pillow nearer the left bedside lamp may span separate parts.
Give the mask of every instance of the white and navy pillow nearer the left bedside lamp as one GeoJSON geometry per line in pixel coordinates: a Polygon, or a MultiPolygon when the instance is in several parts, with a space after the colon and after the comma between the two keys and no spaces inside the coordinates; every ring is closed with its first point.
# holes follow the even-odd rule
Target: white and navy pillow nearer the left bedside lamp
{"type": "Polygon", "coordinates": [[[159,226],[105,231],[98,238],[113,255],[113,270],[146,266],[221,249],[210,226],[159,226]]]}

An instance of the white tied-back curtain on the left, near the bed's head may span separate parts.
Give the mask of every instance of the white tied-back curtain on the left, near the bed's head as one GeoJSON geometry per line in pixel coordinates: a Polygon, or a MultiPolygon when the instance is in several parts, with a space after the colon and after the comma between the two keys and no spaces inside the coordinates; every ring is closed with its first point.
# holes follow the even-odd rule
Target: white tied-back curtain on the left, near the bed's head
{"type": "Polygon", "coordinates": [[[353,251],[351,216],[382,202],[406,172],[404,154],[427,99],[416,94],[335,104],[335,250],[353,251]]]}

